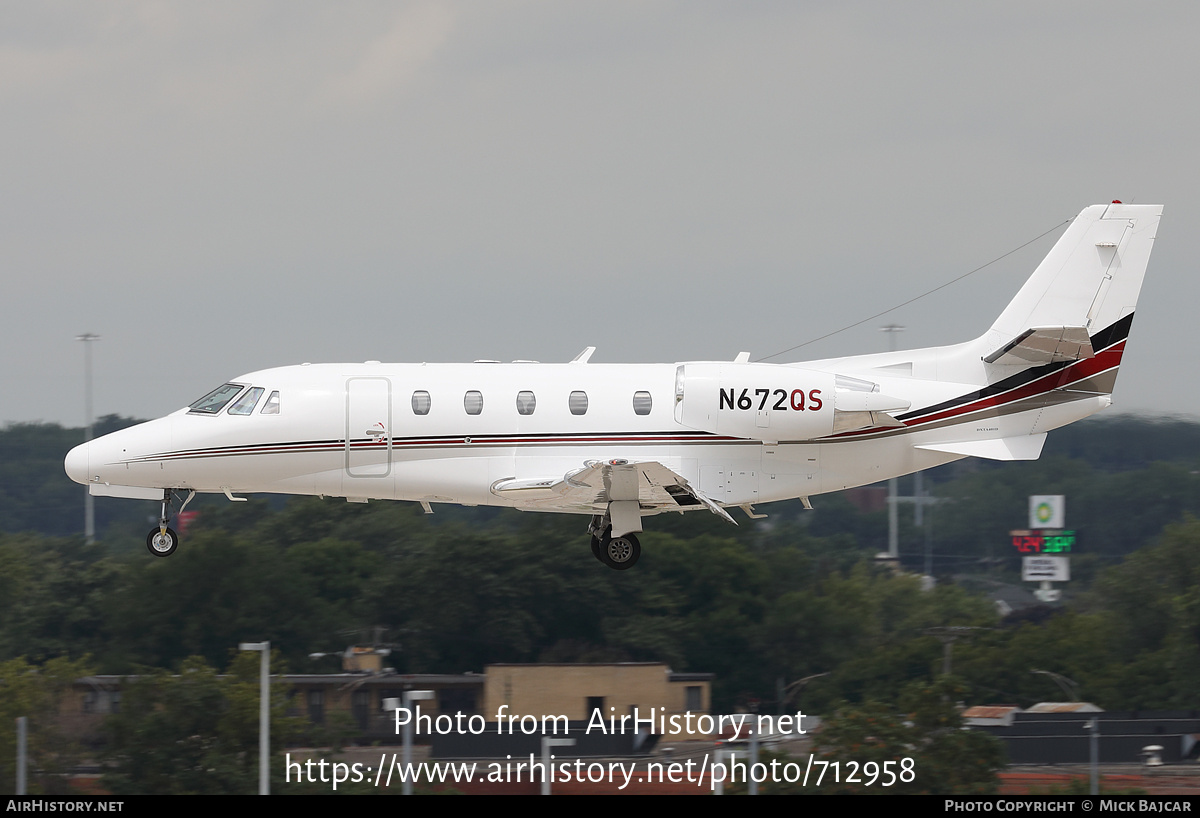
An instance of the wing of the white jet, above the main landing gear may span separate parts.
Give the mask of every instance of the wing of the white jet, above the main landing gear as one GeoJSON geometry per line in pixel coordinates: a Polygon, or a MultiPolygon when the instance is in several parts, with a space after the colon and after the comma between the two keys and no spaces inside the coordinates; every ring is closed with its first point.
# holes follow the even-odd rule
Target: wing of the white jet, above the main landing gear
{"type": "Polygon", "coordinates": [[[640,510],[704,506],[737,524],[725,509],[658,461],[588,461],[583,468],[557,479],[499,480],[492,485],[492,493],[523,509],[544,511],[604,513],[611,503],[632,501],[640,510]]]}

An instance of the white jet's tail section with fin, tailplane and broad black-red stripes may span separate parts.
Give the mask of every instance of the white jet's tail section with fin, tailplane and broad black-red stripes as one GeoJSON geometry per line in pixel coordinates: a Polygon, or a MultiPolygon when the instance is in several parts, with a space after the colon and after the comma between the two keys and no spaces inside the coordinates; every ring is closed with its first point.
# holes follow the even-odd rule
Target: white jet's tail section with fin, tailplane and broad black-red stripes
{"type": "Polygon", "coordinates": [[[1034,459],[1046,432],[1108,407],[1162,213],[1085,209],[986,332],[908,355],[916,377],[967,386],[896,416],[916,447],[1034,459]]]}

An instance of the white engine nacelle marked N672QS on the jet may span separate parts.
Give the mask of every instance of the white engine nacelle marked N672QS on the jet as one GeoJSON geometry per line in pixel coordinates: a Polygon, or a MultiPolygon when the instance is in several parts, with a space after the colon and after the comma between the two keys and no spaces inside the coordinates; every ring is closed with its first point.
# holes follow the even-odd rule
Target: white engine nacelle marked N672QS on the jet
{"type": "Polygon", "coordinates": [[[750,440],[811,440],[834,431],[835,375],[778,363],[684,363],[676,420],[750,440]]]}

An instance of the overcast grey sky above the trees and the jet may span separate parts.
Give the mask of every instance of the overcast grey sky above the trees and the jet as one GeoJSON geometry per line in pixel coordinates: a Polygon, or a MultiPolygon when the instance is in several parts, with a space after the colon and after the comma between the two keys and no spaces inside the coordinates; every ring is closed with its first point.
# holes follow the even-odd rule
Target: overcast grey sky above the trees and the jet
{"type": "MultiPolygon", "coordinates": [[[[1200,4],[0,0],[0,421],[302,361],[755,357],[1122,199],[1200,414],[1200,4]]],[[[775,360],[982,332],[1057,234],[775,360]]]]}

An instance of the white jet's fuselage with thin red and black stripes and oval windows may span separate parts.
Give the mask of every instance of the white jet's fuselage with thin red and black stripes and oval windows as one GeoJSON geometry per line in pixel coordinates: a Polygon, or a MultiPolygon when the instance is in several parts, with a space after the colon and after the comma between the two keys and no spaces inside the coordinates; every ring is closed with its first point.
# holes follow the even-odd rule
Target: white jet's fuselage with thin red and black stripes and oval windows
{"type": "MultiPolygon", "coordinates": [[[[958,459],[961,455],[914,444],[1004,437],[1001,425],[1006,433],[1030,434],[1033,416],[1043,409],[1003,416],[984,410],[965,425],[955,423],[949,435],[942,427],[908,434],[884,431],[864,439],[738,439],[676,420],[679,366],[358,363],[264,369],[230,381],[262,387],[264,399],[250,414],[230,415],[228,407],[214,415],[181,409],[92,441],[86,465],[77,464],[77,471],[68,462],[68,471],[94,485],[594,513],[602,509],[562,507],[545,493],[510,497],[493,487],[512,479],[560,479],[592,461],[624,458],[661,463],[714,501],[737,506],[822,494],[958,459]],[[271,392],[278,392],[278,411],[263,414],[271,392]],[[473,392],[482,403],[478,414],[467,411],[473,392]],[[425,414],[414,411],[414,393],[427,395],[425,414]],[[533,396],[530,414],[518,411],[522,393],[533,396]],[[582,414],[571,411],[572,393],[576,411],[582,408],[578,396],[586,396],[582,414]]],[[[802,387],[817,372],[775,368],[802,387]]],[[[959,384],[884,380],[886,391],[902,389],[914,408],[964,391],[959,384]]],[[[746,389],[757,404],[754,389],[746,389]]],[[[820,411],[832,415],[842,395],[833,391],[826,390],[820,411]]],[[[775,402],[768,396],[768,407],[775,402]]],[[[1100,408],[1094,401],[1075,404],[1069,420],[1100,408]]],[[[529,410],[528,398],[522,405],[529,410]]]]}

